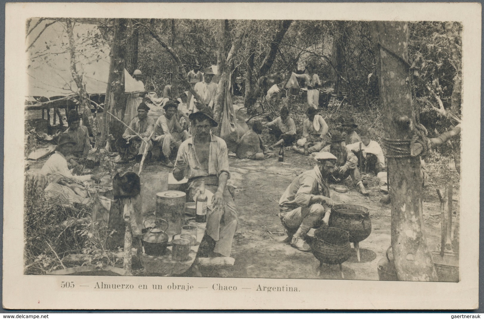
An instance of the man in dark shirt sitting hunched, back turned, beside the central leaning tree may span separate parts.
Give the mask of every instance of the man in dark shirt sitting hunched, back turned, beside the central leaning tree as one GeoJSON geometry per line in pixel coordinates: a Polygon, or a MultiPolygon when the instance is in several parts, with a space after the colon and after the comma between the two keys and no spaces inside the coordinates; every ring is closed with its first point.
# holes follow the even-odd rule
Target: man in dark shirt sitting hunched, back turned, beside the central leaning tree
{"type": "Polygon", "coordinates": [[[237,145],[237,157],[239,159],[264,159],[267,153],[266,146],[260,138],[262,124],[255,121],[252,128],[242,135],[239,145],[237,145]]]}

